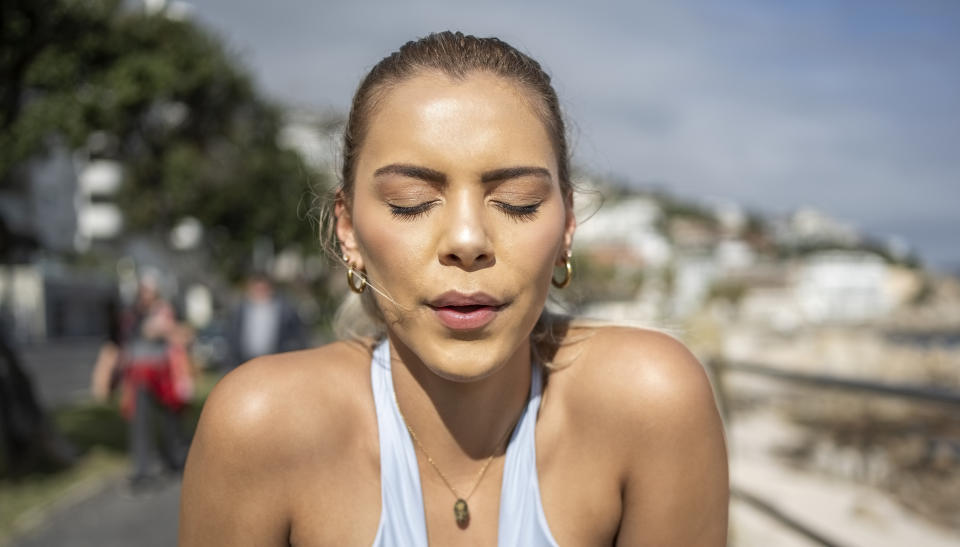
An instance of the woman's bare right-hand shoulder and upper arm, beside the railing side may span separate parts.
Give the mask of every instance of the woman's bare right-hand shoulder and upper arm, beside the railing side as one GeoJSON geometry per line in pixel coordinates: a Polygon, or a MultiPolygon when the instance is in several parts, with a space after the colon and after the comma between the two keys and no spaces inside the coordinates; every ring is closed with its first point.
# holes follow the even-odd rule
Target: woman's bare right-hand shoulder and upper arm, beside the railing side
{"type": "Polygon", "coordinates": [[[595,459],[617,475],[617,544],[724,545],[727,456],[703,366],[658,331],[574,334],[571,363],[550,382],[561,388],[573,434],[603,447],[595,459]]]}

